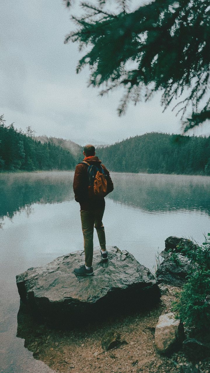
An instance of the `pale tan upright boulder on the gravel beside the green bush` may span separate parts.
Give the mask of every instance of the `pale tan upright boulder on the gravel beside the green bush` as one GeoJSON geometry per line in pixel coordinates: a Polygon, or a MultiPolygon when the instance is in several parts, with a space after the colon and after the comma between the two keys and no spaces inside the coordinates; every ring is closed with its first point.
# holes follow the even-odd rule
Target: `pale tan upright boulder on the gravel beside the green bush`
{"type": "Polygon", "coordinates": [[[171,353],[181,347],[184,327],[176,320],[173,312],[161,315],[155,328],[155,345],[163,354],[171,353]]]}

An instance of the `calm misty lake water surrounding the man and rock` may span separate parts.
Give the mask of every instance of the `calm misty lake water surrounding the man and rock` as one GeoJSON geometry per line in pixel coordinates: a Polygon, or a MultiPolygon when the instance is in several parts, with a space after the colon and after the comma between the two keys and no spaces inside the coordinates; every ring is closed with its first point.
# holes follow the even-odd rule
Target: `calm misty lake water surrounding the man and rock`
{"type": "MultiPolygon", "coordinates": [[[[52,372],[16,337],[15,275],[83,249],[73,172],[0,174],[0,372],[52,372]]],[[[210,177],[111,173],[107,245],[128,250],[152,269],[170,235],[202,243],[210,232],[210,177]]],[[[95,234],[94,245],[98,246],[95,234]]]]}

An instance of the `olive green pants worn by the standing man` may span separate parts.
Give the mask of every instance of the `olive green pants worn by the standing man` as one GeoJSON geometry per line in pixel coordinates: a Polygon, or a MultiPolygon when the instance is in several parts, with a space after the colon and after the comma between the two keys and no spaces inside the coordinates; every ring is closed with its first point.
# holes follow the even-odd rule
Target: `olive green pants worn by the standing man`
{"type": "Polygon", "coordinates": [[[93,231],[94,227],[98,234],[99,244],[102,249],[106,248],[106,239],[104,225],[102,223],[102,217],[104,215],[103,209],[97,209],[93,211],[80,211],[82,231],[84,237],[84,255],[85,264],[87,267],[92,266],[93,261],[93,231]]]}

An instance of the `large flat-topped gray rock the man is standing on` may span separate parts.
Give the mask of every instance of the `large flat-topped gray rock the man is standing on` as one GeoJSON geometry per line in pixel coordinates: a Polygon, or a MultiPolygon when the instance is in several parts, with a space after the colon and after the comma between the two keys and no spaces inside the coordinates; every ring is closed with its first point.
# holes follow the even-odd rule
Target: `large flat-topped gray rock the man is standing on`
{"type": "Polygon", "coordinates": [[[41,319],[89,322],[115,311],[130,311],[155,304],[160,290],[152,273],[126,250],[108,247],[108,261],[100,250],[93,252],[93,276],[75,276],[73,270],[84,263],[84,252],[56,258],[40,268],[30,268],[16,276],[18,292],[41,319]]]}

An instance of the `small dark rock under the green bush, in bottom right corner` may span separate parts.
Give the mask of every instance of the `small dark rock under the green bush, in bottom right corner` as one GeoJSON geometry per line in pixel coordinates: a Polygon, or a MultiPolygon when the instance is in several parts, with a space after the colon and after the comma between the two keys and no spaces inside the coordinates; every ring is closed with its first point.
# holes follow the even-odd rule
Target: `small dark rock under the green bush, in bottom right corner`
{"type": "Polygon", "coordinates": [[[195,338],[189,338],[183,342],[183,351],[190,360],[198,361],[210,356],[209,346],[195,338]]]}

